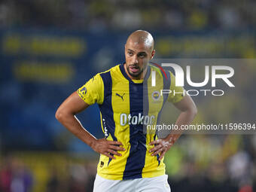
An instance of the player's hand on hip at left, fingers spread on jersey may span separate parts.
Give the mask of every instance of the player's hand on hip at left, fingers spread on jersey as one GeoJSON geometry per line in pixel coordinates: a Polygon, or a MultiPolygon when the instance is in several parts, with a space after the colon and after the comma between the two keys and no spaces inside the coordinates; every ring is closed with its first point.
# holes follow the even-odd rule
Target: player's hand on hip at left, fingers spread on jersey
{"type": "Polygon", "coordinates": [[[107,139],[97,139],[93,143],[93,150],[99,154],[104,154],[105,156],[115,159],[114,155],[122,156],[122,154],[117,151],[125,151],[124,148],[121,148],[120,145],[123,145],[121,142],[117,141],[108,141],[107,139]]]}

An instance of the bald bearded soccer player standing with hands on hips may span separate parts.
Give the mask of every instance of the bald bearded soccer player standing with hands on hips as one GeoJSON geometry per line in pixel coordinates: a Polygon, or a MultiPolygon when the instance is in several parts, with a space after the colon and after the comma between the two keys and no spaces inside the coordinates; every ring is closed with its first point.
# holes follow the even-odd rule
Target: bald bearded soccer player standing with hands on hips
{"type": "Polygon", "coordinates": [[[159,121],[165,102],[181,111],[177,126],[191,123],[197,108],[190,96],[181,94],[182,87],[175,87],[171,72],[148,64],[154,53],[151,34],[133,32],[125,44],[126,62],[95,75],[56,111],[63,126],[100,154],[93,191],[170,191],[163,156],[181,133],[158,139],[157,132],[145,126],[159,121]],[[160,96],[161,89],[180,94],[160,96]],[[94,103],[100,108],[104,139],[92,136],[75,117],[94,103]]]}

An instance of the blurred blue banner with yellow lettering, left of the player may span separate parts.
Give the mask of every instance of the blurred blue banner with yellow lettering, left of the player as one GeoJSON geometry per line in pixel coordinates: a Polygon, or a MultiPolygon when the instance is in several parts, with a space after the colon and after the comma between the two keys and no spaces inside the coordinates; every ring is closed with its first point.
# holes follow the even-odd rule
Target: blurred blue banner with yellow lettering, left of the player
{"type": "MultiPolygon", "coordinates": [[[[81,142],[69,138],[71,134],[66,138],[66,130],[55,120],[56,108],[94,74],[123,61],[120,50],[125,38],[8,29],[1,31],[0,39],[2,148],[77,149],[79,145],[72,143],[81,142]]],[[[91,133],[102,137],[96,106],[78,117],[91,133]]]]}

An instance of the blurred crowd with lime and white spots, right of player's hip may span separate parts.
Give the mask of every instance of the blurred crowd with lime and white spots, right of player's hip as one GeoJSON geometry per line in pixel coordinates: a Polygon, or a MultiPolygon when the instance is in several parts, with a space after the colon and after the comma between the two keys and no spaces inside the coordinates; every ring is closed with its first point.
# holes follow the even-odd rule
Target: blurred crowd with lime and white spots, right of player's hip
{"type": "Polygon", "coordinates": [[[239,135],[183,136],[165,157],[171,186],[174,191],[190,192],[254,191],[255,139],[239,135]]]}

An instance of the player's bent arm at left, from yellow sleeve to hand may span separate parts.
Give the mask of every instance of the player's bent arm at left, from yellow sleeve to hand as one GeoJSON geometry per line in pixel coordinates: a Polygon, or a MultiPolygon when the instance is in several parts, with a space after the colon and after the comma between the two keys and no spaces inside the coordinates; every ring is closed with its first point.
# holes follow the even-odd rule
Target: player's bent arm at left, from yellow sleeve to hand
{"type": "Polygon", "coordinates": [[[81,91],[83,90],[83,87],[81,87],[79,89],[80,91],[78,90],[78,92],[72,93],[64,102],[62,102],[56,111],[55,117],[71,133],[73,133],[75,136],[93,148],[94,151],[114,159],[115,157],[111,154],[121,156],[121,154],[119,154],[117,151],[124,151],[123,148],[117,146],[122,145],[122,143],[116,141],[108,141],[106,139],[96,139],[92,134],[84,129],[84,126],[82,126],[78,118],[75,117],[75,114],[84,111],[88,106],[90,106],[86,100],[92,104],[93,101],[90,100],[91,98],[99,99],[97,98],[99,96],[93,94],[97,90],[97,84],[93,84],[93,86],[91,86],[90,81],[84,85],[84,87],[86,87],[84,92],[81,91]],[[82,93],[87,93],[83,99],[81,97],[82,93]]]}

